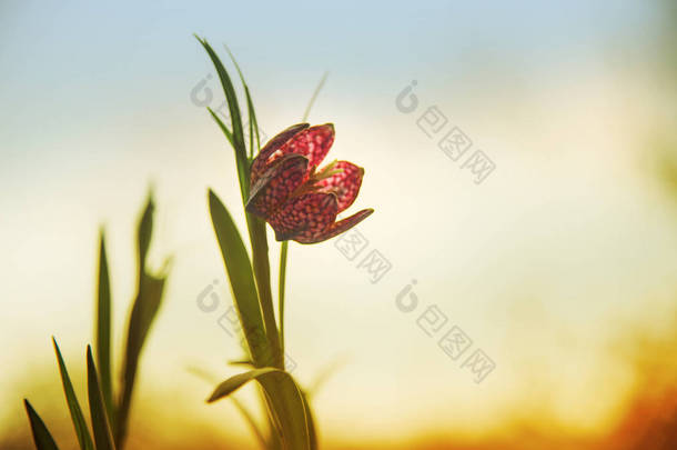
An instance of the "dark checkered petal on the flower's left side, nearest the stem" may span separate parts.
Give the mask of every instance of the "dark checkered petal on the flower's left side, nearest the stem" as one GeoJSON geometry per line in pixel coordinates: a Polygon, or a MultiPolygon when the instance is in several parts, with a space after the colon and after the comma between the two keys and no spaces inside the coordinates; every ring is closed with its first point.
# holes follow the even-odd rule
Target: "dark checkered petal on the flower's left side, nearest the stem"
{"type": "Polygon", "coordinates": [[[306,174],[307,158],[301,154],[286,154],[276,160],[252,186],[246,210],[267,219],[305,181],[306,174]]]}

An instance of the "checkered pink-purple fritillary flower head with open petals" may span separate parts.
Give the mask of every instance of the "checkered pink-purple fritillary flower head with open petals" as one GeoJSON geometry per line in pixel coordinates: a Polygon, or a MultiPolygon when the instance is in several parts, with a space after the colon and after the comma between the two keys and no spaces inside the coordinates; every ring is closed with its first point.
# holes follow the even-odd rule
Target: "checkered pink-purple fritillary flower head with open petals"
{"type": "Polygon", "coordinates": [[[322,242],[374,212],[364,209],[336,221],[357,198],[364,169],[334,161],[317,170],[333,142],[332,123],[299,123],[272,138],[252,161],[246,210],[265,219],[279,241],[322,242]]]}

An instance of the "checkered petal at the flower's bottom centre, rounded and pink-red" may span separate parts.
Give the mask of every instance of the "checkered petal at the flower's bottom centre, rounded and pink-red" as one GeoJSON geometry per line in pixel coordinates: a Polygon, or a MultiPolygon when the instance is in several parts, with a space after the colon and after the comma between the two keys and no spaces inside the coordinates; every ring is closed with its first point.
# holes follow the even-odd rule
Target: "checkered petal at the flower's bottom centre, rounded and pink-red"
{"type": "Polygon", "coordinates": [[[305,193],[287,201],[269,219],[269,223],[279,241],[296,239],[301,234],[311,237],[321,233],[336,220],[337,203],[333,193],[305,193]]]}

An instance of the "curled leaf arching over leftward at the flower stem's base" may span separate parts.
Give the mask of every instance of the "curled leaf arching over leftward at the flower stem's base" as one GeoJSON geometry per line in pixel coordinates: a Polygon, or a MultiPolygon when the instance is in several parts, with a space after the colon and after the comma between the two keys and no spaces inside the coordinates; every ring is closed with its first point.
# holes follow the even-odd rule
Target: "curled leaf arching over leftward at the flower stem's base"
{"type": "Polygon", "coordinates": [[[231,377],[216,387],[208,402],[222,399],[252,380],[256,380],[266,394],[285,448],[290,450],[311,450],[311,437],[303,396],[293,378],[283,370],[267,367],[231,377]]]}

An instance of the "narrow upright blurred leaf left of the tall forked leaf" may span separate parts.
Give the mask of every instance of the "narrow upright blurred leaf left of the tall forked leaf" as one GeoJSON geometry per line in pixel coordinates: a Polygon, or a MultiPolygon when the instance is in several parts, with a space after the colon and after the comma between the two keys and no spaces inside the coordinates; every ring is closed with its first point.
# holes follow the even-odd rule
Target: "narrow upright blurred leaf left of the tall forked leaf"
{"type": "MultiPolygon", "coordinates": [[[[105,237],[103,230],[99,244],[99,289],[97,302],[97,366],[101,377],[101,391],[108,417],[114,417],[113,382],[111,376],[111,283],[105,256],[105,237]]],[[[80,443],[82,446],[82,442],[80,443]]]]}

